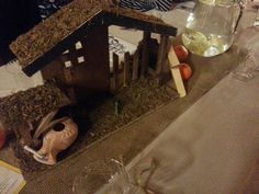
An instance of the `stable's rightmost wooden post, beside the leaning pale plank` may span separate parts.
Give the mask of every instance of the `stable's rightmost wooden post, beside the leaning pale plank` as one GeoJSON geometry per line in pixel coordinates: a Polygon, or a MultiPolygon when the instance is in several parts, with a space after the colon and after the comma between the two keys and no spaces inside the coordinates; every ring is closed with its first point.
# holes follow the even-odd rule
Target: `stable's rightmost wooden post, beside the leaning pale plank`
{"type": "Polygon", "coordinates": [[[158,57],[157,57],[157,68],[156,68],[156,76],[157,76],[157,83],[161,85],[162,83],[162,69],[167,61],[167,49],[169,45],[169,36],[168,35],[160,35],[160,45],[158,48],[158,57]]]}

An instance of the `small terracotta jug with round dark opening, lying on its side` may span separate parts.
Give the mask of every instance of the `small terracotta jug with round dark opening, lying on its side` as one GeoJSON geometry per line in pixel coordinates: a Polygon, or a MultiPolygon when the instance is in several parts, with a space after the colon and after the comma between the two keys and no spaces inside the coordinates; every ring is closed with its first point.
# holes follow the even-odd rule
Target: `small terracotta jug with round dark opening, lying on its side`
{"type": "Polygon", "coordinates": [[[38,155],[43,156],[40,158],[34,155],[34,159],[45,164],[56,164],[57,155],[67,149],[78,136],[78,126],[71,119],[67,118],[56,124],[52,130],[49,130],[43,138],[43,146],[37,151],[38,155]]]}

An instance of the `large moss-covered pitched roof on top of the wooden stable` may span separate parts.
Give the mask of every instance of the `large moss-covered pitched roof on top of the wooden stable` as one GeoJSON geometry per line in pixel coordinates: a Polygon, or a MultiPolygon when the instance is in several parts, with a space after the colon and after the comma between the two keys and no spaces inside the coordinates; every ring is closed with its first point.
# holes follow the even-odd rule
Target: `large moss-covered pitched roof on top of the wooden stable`
{"type": "Polygon", "coordinates": [[[41,70],[97,25],[115,24],[159,34],[177,30],[161,20],[138,11],[111,7],[100,0],[74,0],[26,34],[16,38],[11,50],[27,76],[41,70]]]}

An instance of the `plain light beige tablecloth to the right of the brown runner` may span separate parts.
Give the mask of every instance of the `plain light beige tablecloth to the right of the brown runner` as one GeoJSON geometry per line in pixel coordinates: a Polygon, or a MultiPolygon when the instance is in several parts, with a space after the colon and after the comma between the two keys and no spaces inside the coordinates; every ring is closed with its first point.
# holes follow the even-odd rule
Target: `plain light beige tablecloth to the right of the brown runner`
{"type": "Polygon", "coordinates": [[[161,193],[237,194],[258,159],[259,77],[228,75],[128,166],[158,168],[150,185],[161,193]]]}

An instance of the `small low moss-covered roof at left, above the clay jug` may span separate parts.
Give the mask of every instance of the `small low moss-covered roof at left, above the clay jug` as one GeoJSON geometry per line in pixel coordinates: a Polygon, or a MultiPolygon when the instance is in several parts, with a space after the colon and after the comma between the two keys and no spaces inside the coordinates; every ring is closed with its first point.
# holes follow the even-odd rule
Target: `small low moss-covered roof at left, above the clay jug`
{"type": "Polygon", "coordinates": [[[68,105],[68,98],[53,82],[0,99],[0,122],[8,130],[30,128],[54,110],[68,105]]]}

